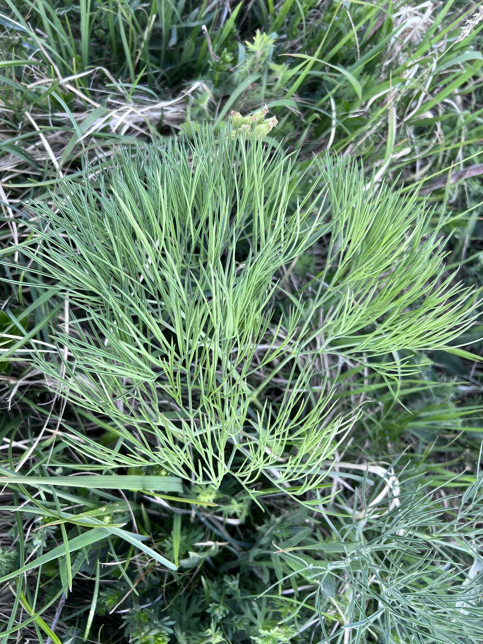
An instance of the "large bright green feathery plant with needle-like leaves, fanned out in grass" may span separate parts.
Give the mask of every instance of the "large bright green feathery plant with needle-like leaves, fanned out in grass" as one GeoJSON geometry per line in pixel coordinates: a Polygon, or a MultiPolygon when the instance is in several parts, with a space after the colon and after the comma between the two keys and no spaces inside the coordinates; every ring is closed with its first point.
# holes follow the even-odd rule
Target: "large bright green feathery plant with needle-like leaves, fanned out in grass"
{"type": "Polygon", "coordinates": [[[415,196],[374,191],[350,160],[296,174],[294,160],[205,128],[147,155],[124,149],[98,175],[86,164],[83,184],[39,204],[20,249],[64,292],[69,319],[53,329],[57,350],[33,345],[32,359],[118,438],[74,428],[64,439],[79,453],[216,487],[263,474],[301,495],[357,419],[332,412],[323,375],[307,395],[317,357],[390,382],[413,370],[405,354],[471,324],[469,289],[442,273],[443,221],[425,238],[431,214],[415,196]],[[309,283],[287,292],[280,271],[317,244],[324,266],[304,301],[309,283]],[[277,403],[263,401],[287,365],[277,403]]]}

